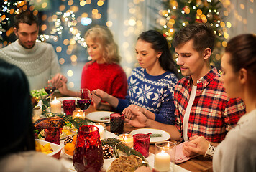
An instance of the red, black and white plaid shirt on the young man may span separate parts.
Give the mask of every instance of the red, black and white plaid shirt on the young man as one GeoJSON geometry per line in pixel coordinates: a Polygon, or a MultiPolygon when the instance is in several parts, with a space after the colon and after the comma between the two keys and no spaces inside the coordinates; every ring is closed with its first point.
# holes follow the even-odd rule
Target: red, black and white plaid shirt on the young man
{"type": "MultiPolygon", "coordinates": [[[[227,131],[244,115],[244,103],[240,98],[227,97],[219,77],[216,67],[213,67],[197,81],[196,97],[188,120],[188,138],[202,135],[206,140],[220,143],[224,140],[227,131]]],[[[175,123],[181,135],[190,93],[191,76],[183,77],[175,86],[174,92],[175,123]]]]}

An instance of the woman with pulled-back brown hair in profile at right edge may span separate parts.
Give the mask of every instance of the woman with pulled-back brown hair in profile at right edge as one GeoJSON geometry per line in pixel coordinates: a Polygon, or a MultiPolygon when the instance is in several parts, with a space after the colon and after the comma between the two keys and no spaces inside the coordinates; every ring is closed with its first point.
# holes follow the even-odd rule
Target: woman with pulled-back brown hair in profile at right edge
{"type": "Polygon", "coordinates": [[[241,34],[229,40],[221,59],[221,81],[230,98],[241,97],[247,113],[215,148],[194,136],[184,145],[187,156],[213,156],[214,171],[256,171],[256,36],[241,34]]]}

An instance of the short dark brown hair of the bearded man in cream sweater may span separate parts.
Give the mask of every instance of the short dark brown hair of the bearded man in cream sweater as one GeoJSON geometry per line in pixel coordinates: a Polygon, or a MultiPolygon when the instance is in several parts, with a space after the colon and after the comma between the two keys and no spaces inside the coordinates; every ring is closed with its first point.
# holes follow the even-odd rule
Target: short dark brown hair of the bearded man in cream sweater
{"type": "Polygon", "coordinates": [[[19,29],[19,23],[26,23],[29,25],[37,24],[38,27],[38,18],[34,16],[32,11],[21,11],[19,14],[14,16],[14,27],[19,29]]]}

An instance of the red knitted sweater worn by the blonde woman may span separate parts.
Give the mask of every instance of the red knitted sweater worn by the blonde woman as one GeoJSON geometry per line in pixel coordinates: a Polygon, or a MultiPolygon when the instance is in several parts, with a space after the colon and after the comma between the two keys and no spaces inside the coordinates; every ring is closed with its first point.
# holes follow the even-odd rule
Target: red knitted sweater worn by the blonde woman
{"type": "Polygon", "coordinates": [[[81,88],[101,89],[109,95],[122,98],[127,95],[127,76],[120,65],[87,62],[83,67],[81,88]]]}

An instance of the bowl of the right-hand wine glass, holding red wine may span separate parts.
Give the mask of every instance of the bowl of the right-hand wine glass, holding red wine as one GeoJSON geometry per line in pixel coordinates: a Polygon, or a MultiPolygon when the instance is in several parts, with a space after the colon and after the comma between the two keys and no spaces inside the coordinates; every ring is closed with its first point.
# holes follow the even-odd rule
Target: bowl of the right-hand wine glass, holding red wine
{"type": "Polygon", "coordinates": [[[85,88],[85,89],[81,89],[80,93],[81,93],[81,100],[77,100],[77,105],[84,112],[91,105],[91,92],[90,90],[85,88]]]}

